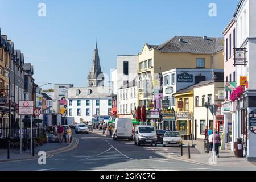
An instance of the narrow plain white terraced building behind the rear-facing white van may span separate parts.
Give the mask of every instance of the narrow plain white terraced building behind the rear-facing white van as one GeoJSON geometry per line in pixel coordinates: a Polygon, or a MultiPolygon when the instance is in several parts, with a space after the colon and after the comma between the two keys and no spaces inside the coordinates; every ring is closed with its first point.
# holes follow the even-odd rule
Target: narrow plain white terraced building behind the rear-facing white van
{"type": "Polygon", "coordinates": [[[118,115],[133,114],[137,102],[137,86],[135,80],[119,88],[117,101],[118,115]]]}

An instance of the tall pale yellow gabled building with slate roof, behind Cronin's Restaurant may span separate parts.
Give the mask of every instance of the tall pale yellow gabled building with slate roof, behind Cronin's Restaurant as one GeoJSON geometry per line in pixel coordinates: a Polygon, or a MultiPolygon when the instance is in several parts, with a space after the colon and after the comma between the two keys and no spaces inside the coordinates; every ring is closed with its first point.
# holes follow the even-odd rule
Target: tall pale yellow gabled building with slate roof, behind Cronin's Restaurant
{"type": "Polygon", "coordinates": [[[154,103],[159,108],[159,73],[174,68],[224,69],[223,50],[223,38],[175,36],[160,46],[144,44],[137,55],[137,105],[154,103]]]}

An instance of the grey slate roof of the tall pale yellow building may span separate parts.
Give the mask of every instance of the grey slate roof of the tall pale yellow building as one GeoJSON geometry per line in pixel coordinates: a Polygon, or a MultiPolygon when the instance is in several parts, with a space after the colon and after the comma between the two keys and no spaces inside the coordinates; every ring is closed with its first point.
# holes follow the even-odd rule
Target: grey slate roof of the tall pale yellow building
{"type": "Polygon", "coordinates": [[[212,54],[224,50],[224,38],[174,36],[156,48],[161,52],[212,54]],[[183,40],[180,42],[180,40],[183,40]]]}

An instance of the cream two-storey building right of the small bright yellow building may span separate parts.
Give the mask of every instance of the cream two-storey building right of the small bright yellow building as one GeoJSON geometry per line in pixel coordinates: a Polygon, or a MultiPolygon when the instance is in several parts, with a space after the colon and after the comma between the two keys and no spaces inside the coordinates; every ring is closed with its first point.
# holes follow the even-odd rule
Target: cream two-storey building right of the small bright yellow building
{"type": "MultiPolygon", "coordinates": [[[[210,102],[210,105],[217,104],[221,105],[224,101],[224,82],[223,81],[203,81],[193,86],[194,90],[194,116],[193,116],[193,127],[195,130],[195,138],[204,139],[204,130],[208,126],[213,127],[213,114],[204,106],[205,102],[210,102]]],[[[215,128],[220,131],[220,134],[224,130],[224,116],[221,114],[221,107],[216,114],[216,125],[215,128]]]]}

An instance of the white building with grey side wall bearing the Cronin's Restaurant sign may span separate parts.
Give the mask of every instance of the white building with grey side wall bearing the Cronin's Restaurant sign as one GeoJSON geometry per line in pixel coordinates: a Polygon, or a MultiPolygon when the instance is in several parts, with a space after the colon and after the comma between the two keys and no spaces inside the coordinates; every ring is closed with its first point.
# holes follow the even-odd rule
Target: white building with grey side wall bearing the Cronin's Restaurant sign
{"type": "Polygon", "coordinates": [[[223,80],[224,69],[191,69],[176,68],[163,72],[163,97],[170,101],[170,107],[175,109],[175,98],[172,94],[181,89],[195,85],[200,81],[212,80],[213,75],[223,80]]]}

